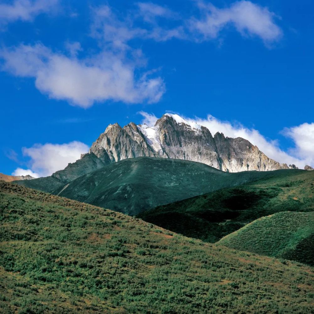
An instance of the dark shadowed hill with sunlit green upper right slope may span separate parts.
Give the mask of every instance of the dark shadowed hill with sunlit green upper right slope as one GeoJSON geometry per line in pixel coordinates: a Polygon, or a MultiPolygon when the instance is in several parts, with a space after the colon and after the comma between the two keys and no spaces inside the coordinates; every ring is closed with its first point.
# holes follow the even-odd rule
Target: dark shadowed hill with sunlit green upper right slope
{"type": "Polygon", "coordinates": [[[216,242],[262,216],[314,211],[313,171],[271,173],[271,177],[160,206],[139,217],[185,236],[216,242]]]}

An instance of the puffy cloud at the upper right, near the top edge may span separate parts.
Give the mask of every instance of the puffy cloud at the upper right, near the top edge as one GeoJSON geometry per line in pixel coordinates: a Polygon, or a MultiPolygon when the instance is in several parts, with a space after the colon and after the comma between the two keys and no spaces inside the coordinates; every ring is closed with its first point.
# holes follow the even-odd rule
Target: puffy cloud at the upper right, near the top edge
{"type": "Polygon", "coordinates": [[[222,9],[211,3],[198,4],[202,18],[192,18],[190,29],[201,35],[203,40],[216,38],[227,25],[233,25],[241,35],[258,36],[265,43],[278,41],[282,36],[282,30],[274,21],[276,15],[251,1],[236,1],[222,9]]]}

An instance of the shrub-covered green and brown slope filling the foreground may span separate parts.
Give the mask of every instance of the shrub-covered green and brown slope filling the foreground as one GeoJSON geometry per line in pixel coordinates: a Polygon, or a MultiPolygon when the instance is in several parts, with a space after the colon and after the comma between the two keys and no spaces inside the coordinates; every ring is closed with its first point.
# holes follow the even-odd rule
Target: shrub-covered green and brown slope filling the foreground
{"type": "Polygon", "coordinates": [[[0,182],[1,313],[310,313],[313,268],[0,182]]]}

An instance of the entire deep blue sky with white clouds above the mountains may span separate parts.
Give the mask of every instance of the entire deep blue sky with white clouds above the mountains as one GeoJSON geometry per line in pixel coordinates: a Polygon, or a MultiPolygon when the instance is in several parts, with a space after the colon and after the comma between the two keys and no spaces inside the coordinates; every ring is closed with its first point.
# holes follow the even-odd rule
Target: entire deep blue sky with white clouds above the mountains
{"type": "Polygon", "coordinates": [[[314,3],[0,0],[0,172],[48,176],[166,112],[314,167],[314,3]]]}

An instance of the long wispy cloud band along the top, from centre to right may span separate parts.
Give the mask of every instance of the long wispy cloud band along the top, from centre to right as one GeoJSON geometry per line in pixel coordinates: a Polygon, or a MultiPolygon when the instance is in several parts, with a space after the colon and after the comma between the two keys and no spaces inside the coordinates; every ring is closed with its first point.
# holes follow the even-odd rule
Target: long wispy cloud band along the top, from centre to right
{"type": "Polygon", "coordinates": [[[105,5],[95,9],[92,33],[120,48],[129,47],[128,42],[134,38],[155,41],[174,38],[196,42],[214,40],[228,26],[235,28],[244,37],[261,38],[267,46],[283,35],[276,24],[279,17],[267,7],[251,1],[236,1],[225,8],[203,1],[196,3],[199,13],[189,17],[183,17],[165,6],[140,2],[137,3],[138,11],[130,11],[118,18],[105,5]],[[139,20],[146,24],[137,26],[139,20]]]}

